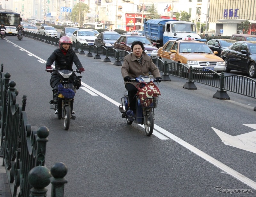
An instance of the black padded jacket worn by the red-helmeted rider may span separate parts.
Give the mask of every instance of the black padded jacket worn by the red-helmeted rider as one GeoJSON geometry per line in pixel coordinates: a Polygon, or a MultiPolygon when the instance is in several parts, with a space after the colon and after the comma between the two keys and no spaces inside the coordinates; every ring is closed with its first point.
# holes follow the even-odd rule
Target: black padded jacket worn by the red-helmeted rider
{"type": "Polygon", "coordinates": [[[52,66],[52,63],[55,61],[55,70],[73,70],[73,62],[75,63],[77,69],[83,68],[80,60],[78,59],[75,51],[71,48],[64,55],[61,49],[56,49],[53,51],[52,55],[48,58],[46,66],[52,66]]]}

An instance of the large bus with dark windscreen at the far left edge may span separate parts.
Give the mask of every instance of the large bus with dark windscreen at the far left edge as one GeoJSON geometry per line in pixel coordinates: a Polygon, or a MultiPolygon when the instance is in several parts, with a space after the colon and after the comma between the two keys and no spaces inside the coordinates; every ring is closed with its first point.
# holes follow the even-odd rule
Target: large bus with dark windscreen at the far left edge
{"type": "Polygon", "coordinates": [[[6,34],[17,34],[16,27],[20,25],[20,21],[22,18],[19,13],[0,10],[0,24],[6,27],[6,34]]]}

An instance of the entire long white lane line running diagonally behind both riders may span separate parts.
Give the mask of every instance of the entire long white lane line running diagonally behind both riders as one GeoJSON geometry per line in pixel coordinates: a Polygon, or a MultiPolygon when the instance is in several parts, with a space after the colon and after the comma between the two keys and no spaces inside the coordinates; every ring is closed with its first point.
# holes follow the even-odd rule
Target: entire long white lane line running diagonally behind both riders
{"type": "MultiPolygon", "coordinates": [[[[11,42],[12,43],[12,42],[11,42]]],[[[14,44],[14,43],[12,43],[14,44]]],[[[14,44],[15,45],[15,44],[14,44]]],[[[19,46],[17,46],[19,47],[19,46]]],[[[21,47],[20,47],[21,48],[21,47]]],[[[24,51],[28,52],[27,50],[24,49],[24,51]]],[[[34,57],[44,61],[43,59],[41,59],[40,57],[28,52],[29,54],[33,55],[34,57]]],[[[46,63],[46,61],[44,61],[46,63]]],[[[85,84],[84,82],[82,82],[82,85],[84,85],[85,87],[87,87],[88,89],[91,89],[92,91],[94,91],[95,93],[99,92],[93,88],[91,88],[89,85],[85,84]]],[[[116,106],[119,106],[120,104],[116,101],[114,101],[113,99],[105,96],[102,93],[98,93],[98,95],[100,95],[101,97],[107,99],[108,101],[112,100],[113,104],[116,106]]],[[[110,101],[111,102],[111,101],[110,101]]],[[[169,133],[168,131],[166,131],[165,129],[157,126],[156,124],[154,124],[154,128],[156,130],[158,130],[159,132],[161,132],[162,134],[164,134],[165,136],[169,137],[170,139],[174,140],[175,142],[178,142],[180,145],[184,146],[185,148],[187,148],[188,150],[190,150],[191,152],[194,152],[196,155],[198,155],[199,157],[202,157],[203,159],[205,159],[206,161],[210,162],[211,164],[215,165],[216,167],[222,169],[223,171],[227,172],[228,174],[230,174],[231,176],[235,177],[236,179],[240,180],[241,182],[243,182],[244,184],[252,187],[253,189],[256,190],[256,183],[254,181],[252,181],[251,179],[245,177],[244,175],[238,173],[237,171],[233,170],[232,168],[228,167],[227,165],[221,163],[220,161],[214,159],[213,157],[207,155],[206,153],[204,153],[203,151],[197,149],[196,147],[190,145],[188,142],[185,142],[183,140],[181,140],[180,138],[178,138],[177,136],[169,133]]]]}

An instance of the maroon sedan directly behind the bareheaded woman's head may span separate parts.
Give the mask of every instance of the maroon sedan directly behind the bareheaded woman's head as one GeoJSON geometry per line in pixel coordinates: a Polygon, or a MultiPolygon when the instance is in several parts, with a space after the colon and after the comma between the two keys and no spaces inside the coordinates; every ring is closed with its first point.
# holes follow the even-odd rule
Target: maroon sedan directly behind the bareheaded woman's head
{"type": "Polygon", "coordinates": [[[138,34],[132,34],[132,35],[121,35],[120,38],[114,43],[114,48],[117,51],[128,51],[129,53],[132,53],[132,42],[133,41],[141,41],[145,47],[145,52],[148,56],[156,57],[157,55],[157,47],[155,47],[147,37],[140,36],[138,34]]]}

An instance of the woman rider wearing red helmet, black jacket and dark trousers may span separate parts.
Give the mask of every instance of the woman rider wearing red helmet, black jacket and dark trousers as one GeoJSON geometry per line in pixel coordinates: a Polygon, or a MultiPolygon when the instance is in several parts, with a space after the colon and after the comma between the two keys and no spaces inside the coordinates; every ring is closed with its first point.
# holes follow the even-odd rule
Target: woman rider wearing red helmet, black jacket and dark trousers
{"type": "MultiPolygon", "coordinates": [[[[55,49],[52,55],[48,58],[46,62],[46,71],[52,73],[52,63],[55,61],[55,70],[73,70],[73,62],[75,63],[78,70],[84,72],[84,68],[79,61],[76,53],[72,49],[72,39],[69,36],[62,36],[59,40],[59,48],[55,49]]],[[[60,84],[60,76],[57,74],[57,71],[54,71],[50,79],[50,85],[53,91],[53,102],[57,106],[58,103],[58,85],[60,84]]],[[[74,73],[74,77],[72,77],[71,81],[76,89],[81,86],[81,80],[76,77],[74,73]]],[[[58,111],[55,111],[57,114],[58,111]]],[[[73,113],[75,113],[73,111],[73,113]]]]}

